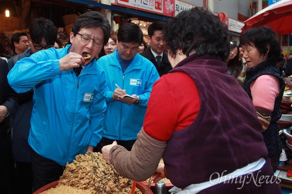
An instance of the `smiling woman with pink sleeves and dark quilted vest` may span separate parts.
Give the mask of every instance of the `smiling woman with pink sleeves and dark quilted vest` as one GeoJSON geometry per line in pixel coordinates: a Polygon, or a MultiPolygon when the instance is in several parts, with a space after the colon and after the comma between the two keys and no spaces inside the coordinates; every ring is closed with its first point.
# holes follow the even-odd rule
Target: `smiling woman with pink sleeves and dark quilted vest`
{"type": "Polygon", "coordinates": [[[240,36],[240,44],[249,68],[242,87],[256,107],[268,157],[275,172],[282,152],[277,121],[282,116],[280,105],[285,90],[285,82],[276,67],[281,54],[280,43],[271,28],[257,27],[245,31],[240,36]]]}

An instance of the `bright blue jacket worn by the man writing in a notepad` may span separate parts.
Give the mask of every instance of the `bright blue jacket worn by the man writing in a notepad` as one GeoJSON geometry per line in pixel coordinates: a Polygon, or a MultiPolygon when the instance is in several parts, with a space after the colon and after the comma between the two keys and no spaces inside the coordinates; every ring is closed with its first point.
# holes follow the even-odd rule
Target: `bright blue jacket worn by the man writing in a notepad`
{"type": "Polygon", "coordinates": [[[107,77],[107,110],[102,136],[111,140],[136,140],[143,126],[150,92],[154,82],[159,79],[159,74],[153,63],[140,54],[134,56],[123,73],[116,54],[117,50],[97,61],[97,64],[105,70],[107,77]],[[111,97],[116,89],[115,84],[126,89],[129,95],[138,95],[139,105],[113,101],[111,97]]]}

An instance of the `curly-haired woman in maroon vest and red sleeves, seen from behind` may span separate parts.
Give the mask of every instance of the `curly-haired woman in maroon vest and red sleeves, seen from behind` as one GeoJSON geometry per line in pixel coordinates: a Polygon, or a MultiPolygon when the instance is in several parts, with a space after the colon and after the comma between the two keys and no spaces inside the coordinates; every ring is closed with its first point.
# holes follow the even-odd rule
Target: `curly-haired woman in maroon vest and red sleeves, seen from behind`
{"type": "Polygon", "coordinates": [[[281,194],[254,105],[226,73],[226,24],[195,7],[164,37],[174,68],[155,82],[132,150],[113,142],[106,161],[135,181],[167,177],[177,194],[281,194]]]}

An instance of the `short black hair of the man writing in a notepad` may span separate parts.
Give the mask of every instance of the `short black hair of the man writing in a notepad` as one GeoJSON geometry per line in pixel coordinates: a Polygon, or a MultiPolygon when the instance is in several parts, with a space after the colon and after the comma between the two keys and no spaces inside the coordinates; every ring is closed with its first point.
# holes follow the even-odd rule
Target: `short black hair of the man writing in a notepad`
{"type": "Polygon", "coordinates": [[[139,45],[143,40],[143,32],[135,23],[124,23],[118,30],[119,42],[137,42],[139,45]]]}

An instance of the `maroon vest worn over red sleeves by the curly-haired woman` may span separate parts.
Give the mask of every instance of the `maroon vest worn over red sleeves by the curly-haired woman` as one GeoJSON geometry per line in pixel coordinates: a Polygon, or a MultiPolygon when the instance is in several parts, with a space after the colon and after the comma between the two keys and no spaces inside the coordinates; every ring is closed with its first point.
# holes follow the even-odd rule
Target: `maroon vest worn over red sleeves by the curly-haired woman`
{"type": "Polygon", "coordinates": [[[219,57],[193,54],[170,71],[187,73],[200,96],[197,118],[175,131],[164,151],[167,176],[177,187],[227,175],[268,155],[255,107],[226,70],[219,57]]]}

